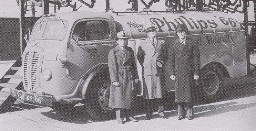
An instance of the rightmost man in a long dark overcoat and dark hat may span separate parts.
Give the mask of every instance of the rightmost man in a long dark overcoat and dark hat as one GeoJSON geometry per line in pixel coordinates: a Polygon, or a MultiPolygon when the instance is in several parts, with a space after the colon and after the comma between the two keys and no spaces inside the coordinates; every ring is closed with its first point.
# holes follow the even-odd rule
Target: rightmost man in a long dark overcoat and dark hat
{"type": "Polygon", "coordinates": [[[178,24],[179,38],[170,46],[170,78],[175,80],[175,102],[178,103],[178,120],[193,119],[192,88],[199,78],[200,54],[198,45],[186,37],[187,26],[178,24]],[[187,111],[186,109],[187,108],[187,111]]]}

